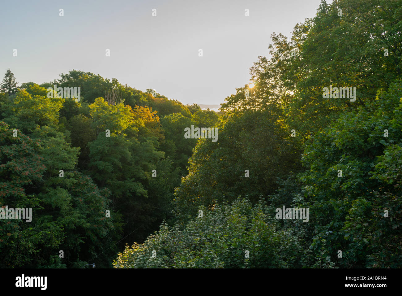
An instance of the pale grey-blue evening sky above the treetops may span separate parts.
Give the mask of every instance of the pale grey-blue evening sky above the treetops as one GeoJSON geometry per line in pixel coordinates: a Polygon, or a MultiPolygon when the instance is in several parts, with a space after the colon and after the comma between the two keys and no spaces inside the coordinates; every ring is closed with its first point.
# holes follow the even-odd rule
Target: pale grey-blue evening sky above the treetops
{"type": "Polygon", "coordinates": [[[155,89],[183,103],[220,104],[236,87],[250,83],[249,68],[258,56],[269,55],[271,34],[290,37],[297,23],[315,16],[319,4],[320,0],[4,1],[0,76],[10,68],[18,85],[40,84],[75,69],[116,78],[142,91],[155,89]]]}

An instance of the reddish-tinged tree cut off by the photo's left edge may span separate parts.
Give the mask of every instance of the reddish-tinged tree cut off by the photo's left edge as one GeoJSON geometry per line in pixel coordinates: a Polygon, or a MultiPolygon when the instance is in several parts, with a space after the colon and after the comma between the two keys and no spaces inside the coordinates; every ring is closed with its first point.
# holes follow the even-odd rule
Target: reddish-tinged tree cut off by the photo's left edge
{"type": "MultiPolygon", "coordinates": [[[[0,207],[32,208],[35,213],[40,209],[39,200],[32,195],[31,188],[38,186],[42,180],[45,166],[43,158],[37,153],[39,141],[34,141],[5,122],[0,122],[0,207]]],[[[39,241],[44,240],[46,247],[57,243],[55,236],[59,233],[51,224],[38,225],[35,220],[25,223],[21,219],[0,219],[0,267],[14,267],[27,264],[33,260],[39,241]],[[46,229],[47,228],[47,229],[46,229]],[[47,230],[53,232],[47,235],[47,230]]]]}

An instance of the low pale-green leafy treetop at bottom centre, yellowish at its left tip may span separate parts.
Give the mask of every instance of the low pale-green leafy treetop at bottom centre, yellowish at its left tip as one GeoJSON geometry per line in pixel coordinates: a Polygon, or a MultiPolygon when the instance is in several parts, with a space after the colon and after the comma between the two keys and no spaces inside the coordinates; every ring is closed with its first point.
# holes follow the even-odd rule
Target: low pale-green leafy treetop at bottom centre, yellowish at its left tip
{"type": "Polygon", "coordinates": [[[126,246],[115,268],[286,268],[299,266],[297,239],[280,230],[263,203],[246,199],[200,207],[183,229],[162,224],[144,244],[126,246]],[[283,242],[286,241],[286,244],[283,242]],[[152,252],[156,251],[156,257],[152,252]],[[245,251],[249,251],[246,258],[245,251]]]}

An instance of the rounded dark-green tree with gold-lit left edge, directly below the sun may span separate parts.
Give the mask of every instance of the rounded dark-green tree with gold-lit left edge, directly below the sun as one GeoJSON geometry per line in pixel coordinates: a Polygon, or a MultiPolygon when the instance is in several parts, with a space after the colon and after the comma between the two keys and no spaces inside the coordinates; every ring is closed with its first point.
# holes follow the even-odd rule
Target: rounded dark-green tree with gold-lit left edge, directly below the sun
{"type": "Polygon", "coordinates": [[[299,155],[297,141],[277,118],[269,110],[235,113],[218,127],[217,142],[199,139],[189,173],[175,192],[176,215],[185,219],[199,205],[238,196],[256,202],[273,193],[278,180],[297,169],[299,155]]]}

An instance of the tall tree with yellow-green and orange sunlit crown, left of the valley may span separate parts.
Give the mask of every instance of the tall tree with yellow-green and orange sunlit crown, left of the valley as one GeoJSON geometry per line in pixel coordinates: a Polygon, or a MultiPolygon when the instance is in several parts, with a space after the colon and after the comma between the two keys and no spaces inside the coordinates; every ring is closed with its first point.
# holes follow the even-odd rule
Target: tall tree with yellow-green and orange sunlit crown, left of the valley
{"type": "Polygon", "coordinates": [[[89,107],[98,135],[88,143],[88,170],[99,186],[111,190],[111,199],[126,222],[124,236],[143,240],[154,230],[150,227],[159,218],[156,215],[165,215],[155,209],[155,205],[164,205],[154,200],[158,195],[148,195],[152,170],[164,156],[156,149],[156,113],[148,108],[133,111],[129,105],[109,105],[103,98],[96,98],[89,107]]]}

